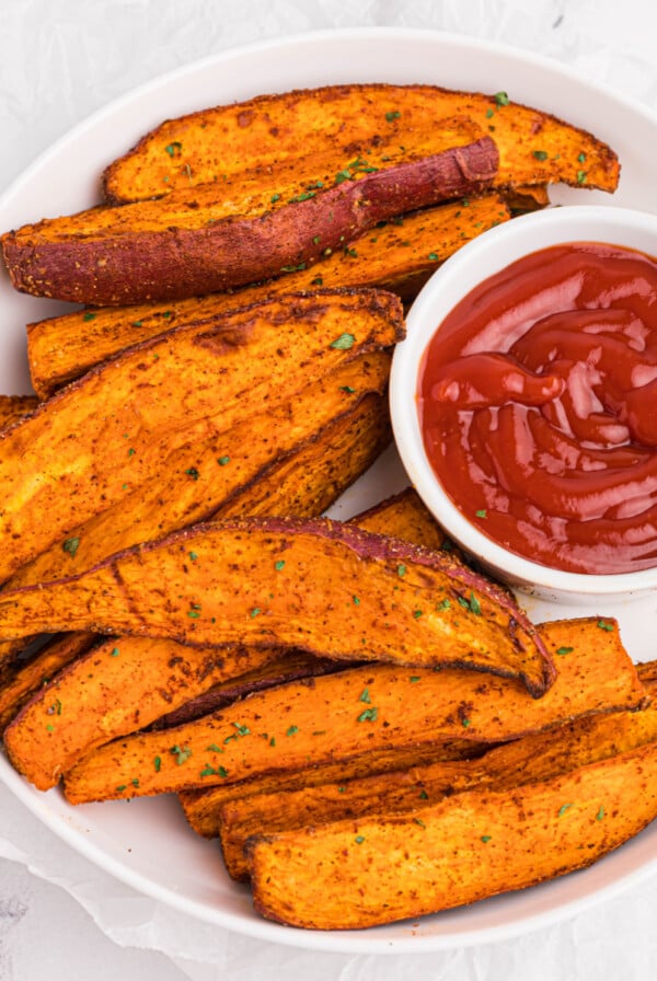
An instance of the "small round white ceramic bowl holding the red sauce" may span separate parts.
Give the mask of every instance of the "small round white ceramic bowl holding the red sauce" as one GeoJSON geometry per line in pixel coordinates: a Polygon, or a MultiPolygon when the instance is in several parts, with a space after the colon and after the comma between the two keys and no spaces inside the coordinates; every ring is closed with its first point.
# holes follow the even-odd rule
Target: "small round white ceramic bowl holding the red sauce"
{"type": "Polygon", "coordinates": [[[549,208],[515,218],[464,245],[431,276],[413,303],[407,316],[407,338],[397,346],[393,358],[390,390],[402,463],[448,534],[503,581],[541,599],[566,603],[645,597],[657,588],[657,567],[610,575],[568,573],[514,554],[483,534],[448,497],[427,459],[417,389],[423,355],[436,330],[477,284],[532,252],[584,241],[627,246],[657,256],[657,217],[598,206],[549,208]]]}

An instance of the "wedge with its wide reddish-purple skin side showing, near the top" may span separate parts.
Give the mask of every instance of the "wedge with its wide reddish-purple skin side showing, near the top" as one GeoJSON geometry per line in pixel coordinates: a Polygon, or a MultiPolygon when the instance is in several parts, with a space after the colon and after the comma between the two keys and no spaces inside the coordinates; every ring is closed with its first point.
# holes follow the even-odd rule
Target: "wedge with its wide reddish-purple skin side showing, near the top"
{"type": "MultiPolygon", "coordinates": [[[[221,200],[216,186],[97,207],[7,232],[13,286],[93,305],[181,299],[277,276],[341,249],[378,222],[477,194],[497,169],[497,150],[469,122],[434,132],[424,154],[389,147],[343,181],[292,175],[276,193],[262,183],[221,200]],[[316,189],[315,189],[316,188],[316,189]]],[[[380,148],[378,148],[380,149],[380,148]]]]}

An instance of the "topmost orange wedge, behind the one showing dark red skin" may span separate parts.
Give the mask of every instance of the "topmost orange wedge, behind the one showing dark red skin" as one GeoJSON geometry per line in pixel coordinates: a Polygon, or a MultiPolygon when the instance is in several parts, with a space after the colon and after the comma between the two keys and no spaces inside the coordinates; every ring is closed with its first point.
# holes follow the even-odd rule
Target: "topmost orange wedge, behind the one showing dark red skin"
{"type": "Polygon", "coordinates": [[[615,187],[618,161],[609,147],[504,92],[366,83],[260,95],[170,119],[107,168],[105,197],[123,203],[189,184],[231,184],[244,171],[264,178],[286,164],[310,180],[318,161],[336,173],[381,140],[412,148],[452,116],[494,137],[499,186],[564,181],[615,187]]]}

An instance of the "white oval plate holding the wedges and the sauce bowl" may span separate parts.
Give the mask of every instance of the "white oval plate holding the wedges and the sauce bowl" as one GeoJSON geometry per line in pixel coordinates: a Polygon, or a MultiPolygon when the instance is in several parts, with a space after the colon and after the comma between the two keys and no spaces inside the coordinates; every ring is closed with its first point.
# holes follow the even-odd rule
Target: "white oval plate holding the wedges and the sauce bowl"
{"type": "MultiPolygon", "coordinates": [[[[214,103],[332,82],[433,82],[485,92],[568,118],[608,140],[622,161],[620,189],[563,191],[560,199],[657,211],[654,147],[657,119],[646,109],[567,69],[508,48],[431,32],[366,28],[323,32],[229,51],[140,88],[57,142],[0,200],[0,230],[95,204],[99,175],[161,119],[214,103]]],[[[0,391],[28,391],[24,324],[60,309],[14,293],[0,279],[0,391]]],[[[394,455],[362,480],[334,511],[347,517],[403,485],[394,455]]],[[[636,660],[652,656],[656,602],[604,612],[619,616],[636,660]]],[[[533,603],[535,620],[579,615],[580,608],[533,603]]],[[[591,612],[591,611],[588,611],[591,612]]],[[[218,847],[186,827],[174,798],[69,807],[58,790],[39,794],[0,757],[0,778],[76,850],[138,890],[197,916],[261,939],[318,950],[422,953],[499,940],[554,923],[657,872],[657,824],[586,872],[417,923],[370,931],[307,932],[260,919],[246,888],[227,877],[218,847]]]]}

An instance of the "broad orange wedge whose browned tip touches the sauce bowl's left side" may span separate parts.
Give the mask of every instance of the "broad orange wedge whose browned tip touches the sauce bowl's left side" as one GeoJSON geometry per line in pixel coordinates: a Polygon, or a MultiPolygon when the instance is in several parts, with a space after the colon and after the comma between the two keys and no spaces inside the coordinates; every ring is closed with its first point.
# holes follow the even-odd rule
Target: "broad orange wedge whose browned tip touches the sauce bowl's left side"
{"type": "Polygon", "coordinates": [[[392,295],[318,291],[173,328],[89,372],[0,434],[0,540],[11,541],[0,581],[151,480],[174,450],[402,335],[392,295]]]}

